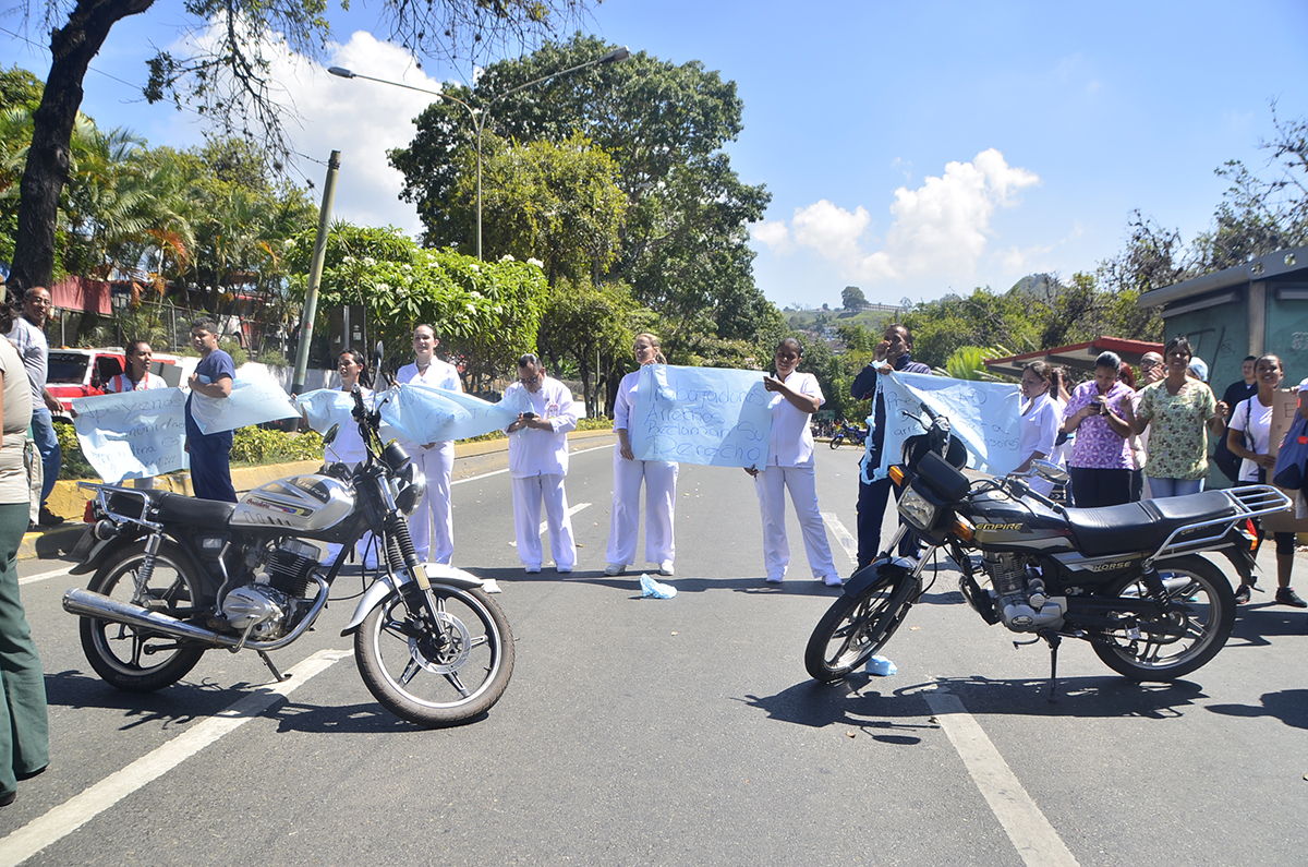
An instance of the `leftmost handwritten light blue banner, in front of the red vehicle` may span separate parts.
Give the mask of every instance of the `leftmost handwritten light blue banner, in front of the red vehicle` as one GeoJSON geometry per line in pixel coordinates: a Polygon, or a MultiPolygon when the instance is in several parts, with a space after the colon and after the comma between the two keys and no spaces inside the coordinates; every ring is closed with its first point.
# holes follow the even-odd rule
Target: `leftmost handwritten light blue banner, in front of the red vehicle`
{"type": "Polygon", "coordinates": [[[82,454],[102,479],[149,478],[190,465],[182,448],[186,439],[182,389],[81,397],[72,406],[82,454]]]}

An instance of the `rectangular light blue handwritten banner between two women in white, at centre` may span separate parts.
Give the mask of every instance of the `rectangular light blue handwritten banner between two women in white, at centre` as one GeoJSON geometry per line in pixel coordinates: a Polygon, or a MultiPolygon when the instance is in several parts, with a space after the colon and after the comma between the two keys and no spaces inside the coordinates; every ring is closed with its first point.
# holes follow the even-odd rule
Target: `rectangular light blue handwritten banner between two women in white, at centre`
{"type": "Polygon", "coordinates": [[[646,364],[629,416],[642,461],[764,466],[772,396],[759,371],[646,364]]]}

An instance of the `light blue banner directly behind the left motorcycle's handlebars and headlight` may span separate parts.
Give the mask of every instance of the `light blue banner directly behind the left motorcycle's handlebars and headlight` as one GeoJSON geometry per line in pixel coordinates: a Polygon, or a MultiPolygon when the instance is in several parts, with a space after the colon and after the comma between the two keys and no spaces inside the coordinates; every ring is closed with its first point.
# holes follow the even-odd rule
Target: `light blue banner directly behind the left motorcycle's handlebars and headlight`
{"type": "Polygon", "coordinates": [[[513,424],[519,413],[506,403],[490,403],[463,392],[416,382],[390,389],[378,402],[382,422],[419,445],[501,431],[513,424]]]}

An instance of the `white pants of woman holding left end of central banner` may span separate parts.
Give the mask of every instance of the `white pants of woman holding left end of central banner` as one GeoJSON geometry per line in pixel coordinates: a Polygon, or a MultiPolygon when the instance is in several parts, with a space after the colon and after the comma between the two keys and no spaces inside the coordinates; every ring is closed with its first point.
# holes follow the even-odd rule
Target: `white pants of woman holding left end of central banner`
{"type": "Polygon", "coordinates": [[[628,461],[613,449],[613,517],[608,526],[607,562],[636,562],[641,524],[641,482],[645,482],[645,559],[671,563],[676,558],[672,516],[676,511],[678,465],[667,461],[628,461]]]}

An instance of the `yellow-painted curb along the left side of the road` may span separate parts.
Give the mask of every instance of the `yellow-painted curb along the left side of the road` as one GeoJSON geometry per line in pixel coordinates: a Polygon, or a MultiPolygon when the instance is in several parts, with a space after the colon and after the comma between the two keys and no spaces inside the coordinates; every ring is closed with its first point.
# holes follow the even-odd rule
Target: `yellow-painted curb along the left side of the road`
{"type": "MultiPolygon", "coordinates": [[[[612,441],[616,441],[612,431],[573,431],[568,435],[568,443],[573,444],[573,448],[612,441]]],[[[279,478],[317,473],[322,465],[322,461],[296,461],[268,464],[267,466],[237,466],[232,468],[232,485],[239,495],[279,478]]],[[[451,474],[454,481],[508,468],[508,437],[454,445],[454,471],[451,474]]],[[[99,479],[86,481],[98,482],[99,479]]],[[[173,473],[161,477],[154,481],[154,486],[174,494],[192,495],[190,473],[173,473]]],[[[59,557],[71,551],[86,526],[82,516],[86,513],[86,502],[92,499],[93,494],[93,491],[77,487],[77,482],[55,482],[55,490],[50,492],[48,506],[51,512],[64,519],[64,523],[50,529],[35,529],[26,533],[22,537],[22,545],[18,546],[18,559],[59,557]]]]}

